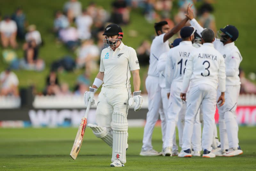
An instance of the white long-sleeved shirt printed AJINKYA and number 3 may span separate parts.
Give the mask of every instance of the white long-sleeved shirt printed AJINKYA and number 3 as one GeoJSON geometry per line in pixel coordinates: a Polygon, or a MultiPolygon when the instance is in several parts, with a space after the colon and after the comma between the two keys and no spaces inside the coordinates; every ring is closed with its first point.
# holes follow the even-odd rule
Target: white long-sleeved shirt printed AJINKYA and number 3
{"type": "Polygon", "coordinates": [[[186,93],[188,86],[194,87],[199,84],[208,84],[217,90],[218,83],[220,92],[224,92],[226,86],[224,58],[214,49],[212,43],[204,43],[188,57],[181,92],[186,93]]]}

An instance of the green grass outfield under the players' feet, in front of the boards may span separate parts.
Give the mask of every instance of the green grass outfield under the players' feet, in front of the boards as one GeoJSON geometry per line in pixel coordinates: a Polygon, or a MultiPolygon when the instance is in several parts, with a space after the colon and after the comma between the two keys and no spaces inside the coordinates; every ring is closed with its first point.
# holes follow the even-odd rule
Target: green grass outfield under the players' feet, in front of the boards
{"type": "MultiPolygon", "coordinates": [[[[129,128],[127,163],[121,170],[255,170],[256,127],[240,127],[244,154],[236,157],[142,157],[143,128],[129,128]]],[[[0,128],[0,170],[113,170],[111,148],[86,130],[76,160],[69,157],[76,128],[0,128]]],[[[160,151],[161,128],[153,133],[154,149],[160,151]]]]}

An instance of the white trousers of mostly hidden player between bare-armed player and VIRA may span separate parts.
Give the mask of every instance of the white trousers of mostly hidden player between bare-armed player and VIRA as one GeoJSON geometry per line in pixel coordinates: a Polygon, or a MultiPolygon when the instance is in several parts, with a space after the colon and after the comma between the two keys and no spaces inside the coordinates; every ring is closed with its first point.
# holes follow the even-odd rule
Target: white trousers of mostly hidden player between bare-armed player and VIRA
{"type": "MultiPolygon", "coordinates": [[[[165,88],[161,89],[161,95],[162,95],[162,102],[163,102],[163,108],[160,107],[160,111],[164,112],[164,115],[160,114],[160,118],[161,116],[164,116],[163,119],[161,119],[161,126],[162,126],[162,135],[163,135],[163,149],[166,147],[164,146],[164,142],[166,141],[166,134],[169,132],[169,129],[167,129],[167,119],[168,119],[168,114],[167,114],[167,110],[168,110],[168,104],[169,104],[169,99],[167,98],[167,92],[165,88]]],[[[159,112],[160,113],[160,112],[159,112]]],[[[173,134],[173,137],[170,138],[173,144],[173,151],[178,150],[178,146],[176,144],[176,131],[173,134]]]]}

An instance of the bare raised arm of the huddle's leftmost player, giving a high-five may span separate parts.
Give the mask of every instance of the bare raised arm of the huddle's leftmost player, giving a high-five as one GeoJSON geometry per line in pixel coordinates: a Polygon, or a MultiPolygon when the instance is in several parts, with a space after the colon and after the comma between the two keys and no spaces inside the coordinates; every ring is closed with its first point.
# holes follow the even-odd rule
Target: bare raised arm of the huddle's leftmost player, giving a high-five
{"type": "MultiPolygon", "coordinates": [[[[191,7],[193,6],[190,5],[190,3],[188,4],[188,8],[187,8],[187,13],[193,13],[193,10],[191,9],[191,7]]],[[[178,31],[185,26],[186,22],[188,21],[188,14],[185,14],[187,17],[185,19],[183,19],[182,21],[180,21],[179,24],[177,24],[175,27],[172,28],[172,30],[170,30],[169,32],[167,32],[164,35],[164,42],[166,42],[168,39],[170,39],[173,35],[175,35],[176,33],[178,33],[178,31]]]]}

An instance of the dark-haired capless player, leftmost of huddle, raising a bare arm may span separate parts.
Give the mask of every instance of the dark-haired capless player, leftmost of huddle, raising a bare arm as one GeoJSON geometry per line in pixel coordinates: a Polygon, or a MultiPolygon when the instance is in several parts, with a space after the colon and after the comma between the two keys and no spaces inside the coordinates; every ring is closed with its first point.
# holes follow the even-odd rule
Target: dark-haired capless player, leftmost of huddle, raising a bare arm
{"type": "MultiPolygon", "coordinates": [[[[191,7],[192,5],[188,5],[189,12],[192,12],[191,7]]],[[[146,89],[148,91],[148,113],[146,125],[144,128],[142,141],[143,145],[140,152],[141,156],[162,155],[162,153],[153,150],[151,143],[153,129],[155,127],[156,121],[158,120],[158,113],[162,103],[161,87],[159,86],[159,72],[156,65],[160,55],[170,50],[168,39],[176,34],[186,24],[187,21],[187,18],[183,19],[177,26],[173,27],[172,30],[170,30],[170,27],[166,21],[155,23],[154,27],[157,36],[153,40],[150,47],[148,77],[146,79],[146,89]]],[[[160,119],[164,118],[164,113],[160,114],[163,115],[160,117],[160,119]]],[[[165,130],[163,130],[164,127],[165,126],[162,125],[163,135],[165,133],[165,130]]]]}

